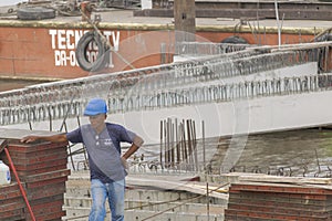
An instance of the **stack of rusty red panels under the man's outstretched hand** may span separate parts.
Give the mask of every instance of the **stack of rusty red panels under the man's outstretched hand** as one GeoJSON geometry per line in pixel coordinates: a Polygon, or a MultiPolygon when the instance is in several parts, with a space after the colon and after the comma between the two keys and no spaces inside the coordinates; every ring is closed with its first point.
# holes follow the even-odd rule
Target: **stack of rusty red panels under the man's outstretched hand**
{"type": "MultiPolygon", "coordinates": [[[[6,138],[2,134],[1,137],[6,138]]],[[[70,175],[68,144],[22,144],[17,139],[7,140],[7,148],[35,219],[62,220],[65,215],[62,209],[65,181],[70,175]]],[[[0,159],[10,165],[4,151],[0,154],[0,159]]],[[[7,220],[31,220],[13,172],[11,179],[11,185],[0,186],[0,217],[6,214],[7,220]]]]}

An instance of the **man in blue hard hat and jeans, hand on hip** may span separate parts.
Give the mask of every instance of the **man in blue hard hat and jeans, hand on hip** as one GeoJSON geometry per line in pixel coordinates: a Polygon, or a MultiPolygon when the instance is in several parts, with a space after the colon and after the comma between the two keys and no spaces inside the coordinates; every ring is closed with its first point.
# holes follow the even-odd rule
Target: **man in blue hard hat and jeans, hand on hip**
{"type": "Polygon", "coordinates": [[[93,98],[84,109],[90,124],[77,129],[51,136],[27,136],[22,143],[46,140],[52,143],[82,143],[89,155],[91,173],[92,208],[89,221],[103,221],[106,215],[105,201],[112,212],[112,221],[124,220],[124,194],[126,160],[142,145],[143,139],[125,127],[106,123],[107,106],[104,99],[93,98]],[[121,155],[121,143],[129,143],[128,150],[121,155]]]}

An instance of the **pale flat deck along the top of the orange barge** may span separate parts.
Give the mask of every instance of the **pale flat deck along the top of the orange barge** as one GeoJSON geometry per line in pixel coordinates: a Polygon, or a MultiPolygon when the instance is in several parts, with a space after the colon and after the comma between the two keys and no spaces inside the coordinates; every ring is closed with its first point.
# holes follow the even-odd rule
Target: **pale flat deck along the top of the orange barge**
{"type": "MultiPolygon", "coordinates": [[[[54,19],[46,19],[40,21],[21,21],[13,15],[7,13],[9,9],[14,9],[15,6],[12,7],[0,7],[0,25],[29,25],[29,23],[33,23],[34,25],[50,24],[50,23],[71,23],[76,25],[82,25],[82,17],[64,17],[56,15],[54,19]]],[[[164,27],[172,28],[174,25],[174,18],[162,18],[162,17],[135,17],[135,9],[114,9],[114,8],[105,8],[97,9],[92,12],[92,20],[95,14],[100,14],[102,21],[101,25],[114,25],[117,28],[125,27],[146,27],[146,29],[160,29],[164,27]]],[[[210,28],[221,28],[221,27],[235,27],[235,25],[256,25],[256,27],[264,27],[264,28],[277,28],[278,23],[274,19],[231,19],[231,18],[196,18],[196,27],[199,29],[200,27],[210,27],[210,28]],[[250,20],[250,21],[249,21],[250,20]]],[[[331,21],[322,21],[322,20],[282,20],[280,21],[280,25],[282,29],[326,29],[331,28],[331,21]]]]}

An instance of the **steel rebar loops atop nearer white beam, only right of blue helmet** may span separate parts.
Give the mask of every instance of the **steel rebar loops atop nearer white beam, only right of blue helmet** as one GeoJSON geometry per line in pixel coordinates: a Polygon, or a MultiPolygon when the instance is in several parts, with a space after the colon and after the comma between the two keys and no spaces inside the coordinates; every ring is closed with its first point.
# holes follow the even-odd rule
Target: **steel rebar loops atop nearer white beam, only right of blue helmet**
{"type": "Polygon", "coordinates": [[[323,74],[231,84],[215,83],[173,90],[160,88],[151,93],[147,91],[145,93],[133,91],[125,96],[110,96],[108,105],[111,113],[124,113],[214,102],[231,102],[331,90],[331,82],[332,76],[323,74]]]}

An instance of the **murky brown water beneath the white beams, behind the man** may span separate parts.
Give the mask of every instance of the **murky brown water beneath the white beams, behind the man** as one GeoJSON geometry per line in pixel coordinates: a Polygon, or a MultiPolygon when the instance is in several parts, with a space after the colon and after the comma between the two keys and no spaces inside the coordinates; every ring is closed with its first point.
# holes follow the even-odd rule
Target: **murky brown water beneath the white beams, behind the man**
{"type": "MultiPolygon", "coordinates": [[[[234,138],[206,139],[206,161],[210,165],[209,173],[220,175],[229,172],[222,167],[234,138]]],[[[278,131],[270,134],[250,135],[234,148],[238,155],[235,157],[235,167],[231,171],[256,172],[284,177],[332,177],[332,130],[300,129],[292,131],[278,131]],[[245,141],[243,141],[245,140],[245,141]],[[242,149],[241,146],[245,145],[242,149]]],[[[136,155],[136,160],[129,159],[131,172],[169,173],[179,172],[170,170],[149,169],[151,165],[158,165],[159,145],[143,146],[136,155]],[[137,159],[144,155],[144,160],[137,159]],[[137,166],[139,165],[139,166],[137,166]]],[[[201,140],[198,140],[199,170],[204,171],[201,140]]],[[[75,166],[83,169],[84,156],[74,156],[75,166]],[[79,164],[80,161],[80,164],[79,164]]],[[[70,166],[72,166],[70,164],[70,166]]],[[[185,170],[193,172],[190,167],[185,170]]],[[[181,171],[184,172],[184,171],[181,171]]]]}

